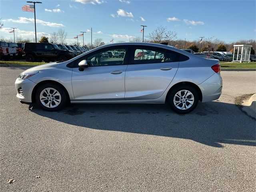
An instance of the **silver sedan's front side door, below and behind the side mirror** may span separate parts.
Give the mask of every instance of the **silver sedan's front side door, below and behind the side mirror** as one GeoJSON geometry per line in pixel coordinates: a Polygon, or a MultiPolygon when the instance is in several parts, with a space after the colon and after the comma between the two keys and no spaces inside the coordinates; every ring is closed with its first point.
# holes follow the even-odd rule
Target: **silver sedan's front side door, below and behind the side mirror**
{"type": "Polygon", "coordinates": [[[124,78],[127,64],[124,58],[112,58],[109,51],[126,52],[126,48],[114,47],[97,50],[78,58],[72,72],[72,88],[77,101],[124,100],[124,78]],[[86,60],[88,68],[83,71],[78,63],[86,60]]]}

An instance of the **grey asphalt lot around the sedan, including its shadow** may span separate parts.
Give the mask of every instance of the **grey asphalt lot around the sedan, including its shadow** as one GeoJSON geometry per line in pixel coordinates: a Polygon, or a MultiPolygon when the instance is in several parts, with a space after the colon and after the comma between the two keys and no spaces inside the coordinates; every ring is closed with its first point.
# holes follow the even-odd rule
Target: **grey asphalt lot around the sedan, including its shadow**
{"type": "Polygon", "coordinates": [[[234,98],[256,92],[256,72],[221,72],[219,100],[178,115],[155,104],[45,112],[16,99],[25,69],[0,67],[1,192],[255,191],[256,122],[234,98]]]}

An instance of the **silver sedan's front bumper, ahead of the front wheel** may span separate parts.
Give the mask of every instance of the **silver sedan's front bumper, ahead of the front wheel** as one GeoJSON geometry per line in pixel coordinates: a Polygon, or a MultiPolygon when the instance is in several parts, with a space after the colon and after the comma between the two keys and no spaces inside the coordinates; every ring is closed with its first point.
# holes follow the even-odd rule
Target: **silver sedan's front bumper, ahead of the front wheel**
{"type": "Polygon", "coordinates": [[[32,82],[29,79],[19,80],[17,78],[15,81],[15,89],[17,92],[16,97],[24,103],[31,103],[32,102],[32,91],[35,86],[36,86],[36,83],[32,82]],[[19,92],[20,88],[23,92],[23,95],[20,94],[20,92],[19,92]]]}

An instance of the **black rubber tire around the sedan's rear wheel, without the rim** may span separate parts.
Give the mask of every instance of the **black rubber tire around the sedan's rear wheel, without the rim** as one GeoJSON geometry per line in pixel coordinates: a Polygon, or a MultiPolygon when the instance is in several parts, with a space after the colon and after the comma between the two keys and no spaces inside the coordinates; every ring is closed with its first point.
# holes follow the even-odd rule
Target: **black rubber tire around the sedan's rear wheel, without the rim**
{"type": "MultiPolygon", "coordinates": [[[[182,94],[183,94],[183,96],[184,96],[185,92],[181,92],[181,95],[182,95],[182,94]]],[[[174,88],[174,89],[170,92],[170,94],[169,94],[169,96],[168,96],[168,104],[169,104],[170,108],[171,108],[174,112],[179,113],[179,114],[187,114],[187,113],[192,112],[192,111],[196,108],[196,106],[197,106],[197,104],[198,104],[198,100],[199,100],[199,97],[198,97],[198,92],[197,92],[197,90],[196,90],[194,87],[190,86],[190,85],[178,86],[178,87],[174,88]],[[183,102],[180,102],[180,104],[177,104],[177,105],[176,105],[177,107],[176,107],[175,104],[174,104],[174,98],[175,98],[175,99],[178,98],[178,97],[175,96],[176,93],[178,93],[179,91],[182,91],[182,90],[188,90],[189,92],[192,93],[192,96],[194,96],[194,103],[193,103],[192,105],[189,104],[189,102],[187,101],[187,100],[189,100],[189,99],[192,98],[191,95],[188,96],[188,98],[185,97],[185,98],[187,99],[186,101],[185,101],[185,99],[182,97],[183,102],[185,102],[185,104],[186,104],[186,105],[188,104],[188,106],[189,106],[189,108],[183,109],[183,110],[178,108],[178,107],[180,107],[180,106],[183,106],[183,102]]],[[[176,101],[177,101],[177,100],[176,100],[176,101]]],[[[178,99],[178,101],[179,101],[179,99],[178,99]]],[[[182,100],[180,99],[180,101],[182,101],[182,100]]],[[[186,107],[185,107],[185,108],[186,108],[186,107]]]]}

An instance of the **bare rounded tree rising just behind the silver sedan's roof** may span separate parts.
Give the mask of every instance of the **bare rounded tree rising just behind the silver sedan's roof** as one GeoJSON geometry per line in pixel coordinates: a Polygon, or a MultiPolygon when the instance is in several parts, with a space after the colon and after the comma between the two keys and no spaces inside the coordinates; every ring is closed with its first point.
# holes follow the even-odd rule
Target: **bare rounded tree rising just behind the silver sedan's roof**
{"type": "Polygon", "coordinates": [[[147,38],[150,42],[160,43],[160,42],[170,42],[177,38],[177,33],[174,31],[167,31],[163,26],[158,27],[152,33],[150,33],[147,38]]]}

